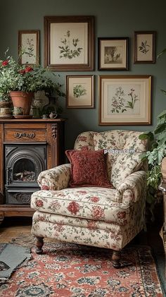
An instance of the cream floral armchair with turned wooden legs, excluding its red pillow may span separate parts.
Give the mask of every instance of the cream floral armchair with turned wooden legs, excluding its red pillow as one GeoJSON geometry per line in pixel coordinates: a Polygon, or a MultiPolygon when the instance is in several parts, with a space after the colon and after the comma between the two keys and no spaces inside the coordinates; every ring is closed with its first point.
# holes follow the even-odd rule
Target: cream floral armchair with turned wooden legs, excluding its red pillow
{"type": "Polygon", "coordinates": [[[84,132],[75,149],[108,150],[107,172],[113,188],[68,187],[70,164],[41,172],[41,190],[32,194],[32,234],[37,253],[43,238],[57,238],[113,250],[114,267],[120,267],[120,250],[143,229],[146,201],[146,166],[140,154],[147,150],[141,132],[84,132]]]}

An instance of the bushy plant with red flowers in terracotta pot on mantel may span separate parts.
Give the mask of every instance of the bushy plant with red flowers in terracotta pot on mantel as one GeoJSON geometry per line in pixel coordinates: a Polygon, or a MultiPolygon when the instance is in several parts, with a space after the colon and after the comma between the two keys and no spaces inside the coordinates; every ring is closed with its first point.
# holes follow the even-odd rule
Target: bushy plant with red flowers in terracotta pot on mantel
{"type": "Polygon", "coordinates": [[[34,92],[44,90],[49,94],[64,96],[61,85],[55,82],[55,73],[37,65],[20,65],[18,61],[12,56],[0,61],[0,97],[10,95],[13,106],[23,109],[23,115],[30,114],[34,92]]]}

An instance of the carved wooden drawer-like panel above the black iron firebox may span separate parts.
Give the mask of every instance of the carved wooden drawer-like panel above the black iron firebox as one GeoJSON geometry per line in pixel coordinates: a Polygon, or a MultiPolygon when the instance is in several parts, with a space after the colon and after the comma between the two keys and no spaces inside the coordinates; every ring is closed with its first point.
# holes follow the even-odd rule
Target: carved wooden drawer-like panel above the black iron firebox
{"type": "Polygon", "coordinates": [[[5,129],[5,143],[46,141],[45,129],[5,129]]]}

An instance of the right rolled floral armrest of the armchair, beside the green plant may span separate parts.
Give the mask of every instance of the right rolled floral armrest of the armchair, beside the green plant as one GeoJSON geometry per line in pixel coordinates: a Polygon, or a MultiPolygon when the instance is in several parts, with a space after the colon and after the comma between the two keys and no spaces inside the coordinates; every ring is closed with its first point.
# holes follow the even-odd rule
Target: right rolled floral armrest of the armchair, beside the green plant
{"type": "Polygon", "coordinates": [[[115,193],[117,201],[130,205],[146,198],[146,171],[136,171],[125,178],[115,193]]]}

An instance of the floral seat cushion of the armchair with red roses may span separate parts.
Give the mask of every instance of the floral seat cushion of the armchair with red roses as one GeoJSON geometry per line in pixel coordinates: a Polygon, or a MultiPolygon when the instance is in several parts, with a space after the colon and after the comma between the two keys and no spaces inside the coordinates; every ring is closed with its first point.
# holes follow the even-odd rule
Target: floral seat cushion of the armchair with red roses
{"type": "Polygon", "coordinates": [[[32,194],[31,207],[39,212],[101,220],[125,225],[130,209],[115,201],[115,189],[100,187],[39,190],[32,194]]]}

